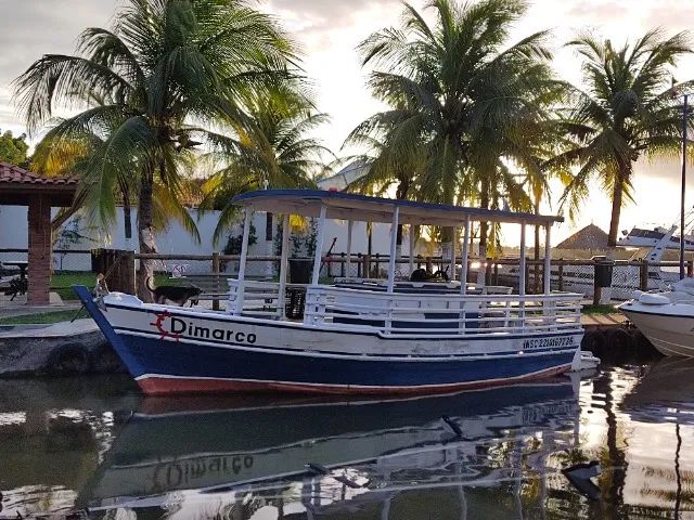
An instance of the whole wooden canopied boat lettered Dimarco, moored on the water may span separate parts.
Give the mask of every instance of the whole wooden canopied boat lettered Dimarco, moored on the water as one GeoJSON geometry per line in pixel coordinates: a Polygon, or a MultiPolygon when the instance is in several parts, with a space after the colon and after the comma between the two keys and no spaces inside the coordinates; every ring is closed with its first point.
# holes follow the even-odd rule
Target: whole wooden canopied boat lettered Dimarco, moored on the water
{"type": "MultiPolygon", "coordinates": [[[[527,295],[524,282],[518,294],[466,283],[472,221],[519,225],[522,263],[526,225],[543,226],[549,265],[550,230],[561,217],[317,190],[257,191],[233,202],[244,226],[239,274],[228,281],[226,310],[145,303],[121,292],[95,299],[87,287],[74,287],[144,393],[451,392],[580,368],[581,295],[552,292],[549,278],[540,295],[527,295]],[[283,216],[278,282],[245,277],[254,211],[283,216]],[[287,283],[290,216],[318,219],[306,285],[287,283]],[[351,222],[389,222],[387,280],[321,283],[326,219],[348,222],[347,258],[351,222]],[[399,224],[462,226],[463,283],[396,280],[399,224]],[[305,298],[300,318],[286,312],[293,299],[287,294],[296,292],[305,298]]],[[[454,255],[450,262],[455,265],[454,255]]]]}

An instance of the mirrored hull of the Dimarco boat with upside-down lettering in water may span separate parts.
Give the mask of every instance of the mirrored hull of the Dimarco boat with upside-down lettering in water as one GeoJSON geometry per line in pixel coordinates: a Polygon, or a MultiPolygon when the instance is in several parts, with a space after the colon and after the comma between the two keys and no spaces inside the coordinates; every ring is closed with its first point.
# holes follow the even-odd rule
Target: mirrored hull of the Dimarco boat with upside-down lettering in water
{"type": "Polygon", "coordinates": [[[348,507],[403,485],[497,486],[514,464],[543,471],[576,438],[578,415],[578,385],[565,376],[385,400],[147,396],[77,502],[92,515],[174,504],[200,511],[273,487],[290,499],[284,491],[322,480],[326,493],[331,484],[352,492],[342,496],[348,507]],[[487,468],[487,457],[503,460],[487,468]]]}

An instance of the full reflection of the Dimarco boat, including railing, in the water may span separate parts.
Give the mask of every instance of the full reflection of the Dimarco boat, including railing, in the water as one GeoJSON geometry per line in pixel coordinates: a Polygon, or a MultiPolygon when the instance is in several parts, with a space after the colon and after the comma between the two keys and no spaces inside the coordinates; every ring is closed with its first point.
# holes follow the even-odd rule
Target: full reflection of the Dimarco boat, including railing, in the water
{"type": "Polygon", "coordinates": [[[167,518],[517,517],[561,480],[578,414],[568,377],[390,401],[150,398],[80,502],[167,518]]]}

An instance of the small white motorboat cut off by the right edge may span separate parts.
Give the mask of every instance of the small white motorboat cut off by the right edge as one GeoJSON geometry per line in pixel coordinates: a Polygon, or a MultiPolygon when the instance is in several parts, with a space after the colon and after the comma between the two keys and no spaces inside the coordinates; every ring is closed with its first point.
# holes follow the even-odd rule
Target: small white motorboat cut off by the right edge
{"type": "Polygon", "coordinates": [[[670,290],[637,290],[618,309],[663,354],[694,356],[694,278],[670,290]]]}

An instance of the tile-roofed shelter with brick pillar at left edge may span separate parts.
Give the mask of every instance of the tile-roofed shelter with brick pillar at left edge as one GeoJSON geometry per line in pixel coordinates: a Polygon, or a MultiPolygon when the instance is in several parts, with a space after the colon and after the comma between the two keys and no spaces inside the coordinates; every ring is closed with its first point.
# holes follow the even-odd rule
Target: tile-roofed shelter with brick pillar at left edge
{"type": "MultiPolygon", "coordinates": [[[[0,162],[0,205],[29,208],[27,303],[30,306],[49,303],[51,208],[70,206],[76,191],[76,179],[42,177],[17,166],[0,162]]],[[[10,223],[2,222],[0,227],[10,223]]]]}

